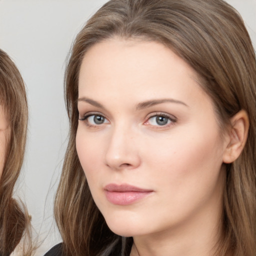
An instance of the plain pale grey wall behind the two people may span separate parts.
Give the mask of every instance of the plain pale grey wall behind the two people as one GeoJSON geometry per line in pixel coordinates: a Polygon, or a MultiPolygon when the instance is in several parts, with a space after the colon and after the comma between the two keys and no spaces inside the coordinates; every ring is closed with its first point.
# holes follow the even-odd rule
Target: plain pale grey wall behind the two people
{"type": "MultiPolygon", "coordinates": [[[[75,34],[106,0],[0,0],[0,48],[27,87],[28,140],[18,195],[25,199],[42,241],[42,255],[60,241],[53,196],[65,152],[68,121],[63,99],[65,58],[75,34]],[[48,234],[48,235],[47,235],[48,234]]],[[[228,0],[242,15],[256,46],[256,0],[228,0]]]]}

